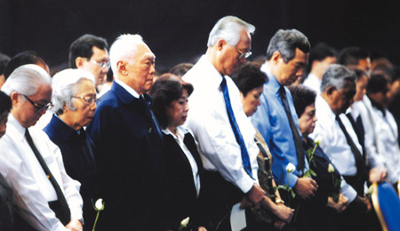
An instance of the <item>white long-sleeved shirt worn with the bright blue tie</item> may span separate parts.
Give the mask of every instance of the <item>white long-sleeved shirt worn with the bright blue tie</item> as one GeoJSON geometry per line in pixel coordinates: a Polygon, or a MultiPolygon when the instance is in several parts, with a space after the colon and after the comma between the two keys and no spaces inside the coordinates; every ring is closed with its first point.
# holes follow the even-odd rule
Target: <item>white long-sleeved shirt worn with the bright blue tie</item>
{"type": "Polygon", "coordinates": [[[254,142],[255,130],[252,123],[244,114],[240,92],[232,79],[225,77],[236,122],[249,153],[254,179],[244,171],[240,146],[229,123],[220,88],[222,76],[205,56],[183,76],[184,81],[194,86],[194,92],[188,99],[190,110],[185,124],[198,142],[204,169],[219,171],[224,179],[247,193],[258,182],[257,155],[260,150],[254,142]]]}

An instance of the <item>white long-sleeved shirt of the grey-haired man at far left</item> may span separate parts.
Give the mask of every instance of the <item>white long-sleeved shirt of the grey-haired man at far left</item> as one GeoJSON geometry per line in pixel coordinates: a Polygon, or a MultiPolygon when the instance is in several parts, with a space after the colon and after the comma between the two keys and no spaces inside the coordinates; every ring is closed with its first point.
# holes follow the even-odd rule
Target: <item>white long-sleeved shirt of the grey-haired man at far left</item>
{"type": "MultiPolygon", "coordinates": [[[[83,200],[79,194],[81,184],[68,177],[60,148],[46,133],[35,127],[28,129],[36,148],[47,163],[67,200],[71,219],[82,219],[83,200]]],[[[26,129],[12,114],[8,116],[7,130],[0,139],[0,171],[14,192],[20,215],[38,230],[67,230],[48,202],[57,200],[57,194],[36,155],[25,139],[26,129]]]]}

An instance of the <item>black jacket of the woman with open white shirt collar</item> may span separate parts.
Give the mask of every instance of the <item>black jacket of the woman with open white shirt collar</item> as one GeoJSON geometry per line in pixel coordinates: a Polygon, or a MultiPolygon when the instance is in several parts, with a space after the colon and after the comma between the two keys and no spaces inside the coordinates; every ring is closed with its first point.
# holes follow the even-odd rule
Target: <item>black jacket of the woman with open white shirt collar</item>
{"type": "MultiPolygon", "coordinates": [[[[197,211],[199,204],[196,196],[195,181],[192,168],[180,145],[172,135],[164,136],[164,160],[167,179],[170,184],[172,206],[170,208],[170,227],[177,230],[182,219],[190,218],[191,223],[199,222],[197,211]]],[[[202,186],[203,163],[198,154],[195,139],[190,133],[185,134],[184,144],[196,160],[202,186]]],[[[202,187],[200,187],[201,189],[202,187]]]]}

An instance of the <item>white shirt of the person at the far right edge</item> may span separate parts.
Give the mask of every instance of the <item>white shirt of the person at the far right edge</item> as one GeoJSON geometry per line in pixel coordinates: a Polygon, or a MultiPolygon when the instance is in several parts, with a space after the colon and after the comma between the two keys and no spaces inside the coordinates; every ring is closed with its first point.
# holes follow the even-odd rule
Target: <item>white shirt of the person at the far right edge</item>
{"type": "Polygon", "coordinates": [[[377,126],[377,144],[384,166],[388,171],[388,180],[395,184],[400,179],[400,149],[398,147],[397,123],[395,117],[385,109],[385,116],[378,108],[372,108],[377,126]]]}

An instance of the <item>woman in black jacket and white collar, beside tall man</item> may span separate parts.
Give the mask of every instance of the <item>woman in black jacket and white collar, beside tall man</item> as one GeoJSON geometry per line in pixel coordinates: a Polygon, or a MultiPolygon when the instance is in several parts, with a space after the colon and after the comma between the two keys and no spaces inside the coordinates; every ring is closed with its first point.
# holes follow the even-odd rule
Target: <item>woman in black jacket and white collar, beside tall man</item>
{"type": "MultiPolygon", "coordinates": [[[[163,128],[165,170],[172,198],[168,219],[173,230],[178,230],[180,221],[187,217],[193,226],[198,225],[196,218],[203,163],[195,139],[180,126],[188,116],[188,96],[192,92],[191,84],[172,74],[160,76],[150,91],[152,109],[163,128]]],[[[199,230],[204,230],[204,227],[199,227],[199,230]]]]}

